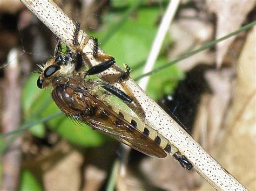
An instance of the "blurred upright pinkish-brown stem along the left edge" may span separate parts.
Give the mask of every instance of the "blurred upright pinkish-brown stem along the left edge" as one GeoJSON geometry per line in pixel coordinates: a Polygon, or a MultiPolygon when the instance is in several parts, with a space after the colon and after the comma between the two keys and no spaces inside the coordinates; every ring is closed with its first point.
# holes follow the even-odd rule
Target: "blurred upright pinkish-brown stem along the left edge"
{"type": "MultiPolygon", "coordinates": [[[[12,49],[8,60],[12,60],[4,69],[3,84],[3,133],[16,130],[21,124],[21,69],[17,63],[18,52],[12,49]]],[[[8,138],[5,139],[8,142],[8,138]]],[[[0,190],[18,190],[19,174],[21,170],[21,136],[15,139],[10,149],[3,154],[2,165],[2,186],[0,190]]]]}

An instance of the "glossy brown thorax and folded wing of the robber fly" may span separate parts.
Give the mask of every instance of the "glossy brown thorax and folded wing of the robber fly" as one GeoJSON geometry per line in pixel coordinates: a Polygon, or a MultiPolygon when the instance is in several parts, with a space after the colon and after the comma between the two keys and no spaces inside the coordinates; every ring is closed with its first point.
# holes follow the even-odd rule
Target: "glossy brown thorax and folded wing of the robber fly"
{"type": "Polygon", "coordinates": [[[151,157],[163,158],[166,153],[154,140],[134,128],[122,116],[92,96],[87,90],[60,84],[52,91],[58,107],[70,117],[82,121],[105,135],[151,157]]]}

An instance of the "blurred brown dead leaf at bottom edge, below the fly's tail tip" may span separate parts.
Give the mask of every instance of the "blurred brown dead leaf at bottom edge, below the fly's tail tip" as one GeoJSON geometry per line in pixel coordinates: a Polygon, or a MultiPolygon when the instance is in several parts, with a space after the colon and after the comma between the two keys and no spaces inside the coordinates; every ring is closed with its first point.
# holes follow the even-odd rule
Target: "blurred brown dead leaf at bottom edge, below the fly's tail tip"
{"type": "Polygon", "coordinates": [[[172,157],[146,157],[137,165],[126,167],[125,175],[118,176],[118,190],[185,190],[197,185],[197,174],[183,169],[172,157]]]}

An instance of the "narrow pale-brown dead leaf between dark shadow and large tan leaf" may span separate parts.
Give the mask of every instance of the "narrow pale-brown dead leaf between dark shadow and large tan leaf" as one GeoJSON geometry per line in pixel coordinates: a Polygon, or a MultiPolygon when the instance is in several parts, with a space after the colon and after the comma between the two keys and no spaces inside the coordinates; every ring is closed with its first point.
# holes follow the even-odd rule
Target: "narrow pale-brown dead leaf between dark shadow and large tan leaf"
{"type": "Polygon", "coordinates": [[[193,137],[210,154],[221,137],[220,132],[231,99],[233,75],[232,68],[209,69],[204,75],[211,93],[201,96],[193,137]]]}

